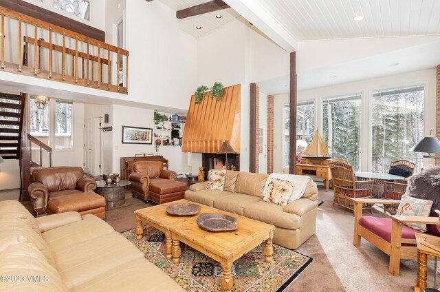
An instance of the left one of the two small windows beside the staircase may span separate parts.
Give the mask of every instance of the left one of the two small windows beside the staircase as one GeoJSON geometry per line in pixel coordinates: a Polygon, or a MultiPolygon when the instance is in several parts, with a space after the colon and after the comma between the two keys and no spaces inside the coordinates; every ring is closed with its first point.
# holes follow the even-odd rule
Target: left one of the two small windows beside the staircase
{"type": "Polygon", "coordinates": [[[49,144],[49,107],[50,104],[47,103],[44,110],[39,110],[35,98],[31,96],[29,132],[47,145],[49,144]]]}

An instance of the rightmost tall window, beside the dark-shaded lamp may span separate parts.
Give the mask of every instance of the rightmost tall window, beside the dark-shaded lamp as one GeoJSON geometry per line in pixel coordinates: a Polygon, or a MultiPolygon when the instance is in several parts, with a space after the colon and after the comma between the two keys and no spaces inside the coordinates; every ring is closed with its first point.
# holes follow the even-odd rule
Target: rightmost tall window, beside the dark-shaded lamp
{"type": "Polygon", "coordinates": [[[422,165],[422,154],[409,149],[423,138],[423,86],[373,92],[373,171],[386,172],[393,160],[422,165]]]}

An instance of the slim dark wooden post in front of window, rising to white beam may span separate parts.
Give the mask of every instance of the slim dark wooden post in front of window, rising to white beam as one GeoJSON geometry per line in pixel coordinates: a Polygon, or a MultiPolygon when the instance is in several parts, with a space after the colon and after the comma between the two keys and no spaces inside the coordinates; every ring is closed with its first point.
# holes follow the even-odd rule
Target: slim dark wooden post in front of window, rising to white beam
{"type": "Polygon", "coordinates": [[[298,86],[296,77],[296,52],[290,53],[290,113],[289,113],[289,174],[296,172],[296,105],[298,86]]]}

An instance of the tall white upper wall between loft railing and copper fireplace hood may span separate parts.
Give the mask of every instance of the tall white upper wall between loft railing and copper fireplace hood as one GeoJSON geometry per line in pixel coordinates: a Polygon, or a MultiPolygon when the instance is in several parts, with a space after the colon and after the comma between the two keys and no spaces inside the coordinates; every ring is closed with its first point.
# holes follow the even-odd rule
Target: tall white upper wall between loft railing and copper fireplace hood
{"type": "Polygon", "coordinates": [[[188,110],[196,86],[196,40],[160,1],[126,1],[131,101],[188,110]]]}

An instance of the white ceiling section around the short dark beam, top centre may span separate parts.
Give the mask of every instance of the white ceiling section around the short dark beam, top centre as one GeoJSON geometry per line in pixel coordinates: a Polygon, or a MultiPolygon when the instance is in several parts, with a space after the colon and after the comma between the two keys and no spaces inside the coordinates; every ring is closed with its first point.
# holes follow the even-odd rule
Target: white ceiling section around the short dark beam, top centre
{"type": "MultiPolygon", "coordinates": [[[[206,2],[210,2],[212,0],[159,0],[164,3],[166,6],[170,7],[173,10],[182,10],[185,8],[190,8],[192,6],[196,6],[199,4],[203,4],[206,2]]],[[[179,26],[180,29],[198,38],[205,34],[212,32],[219,28],[221,25],[224,25],[237,17],[240,17],[240,14],[235,12],[232,8],[218,10],[206,14],[197,15],[195,17],[187,17],[185,19],[180,19],[179,26]],[[217,14],[221,14],[221,18],[217,19],[215,16],[217,14]],[[196,28],[197,25],[201,26],[201,29],[198,30],[196,28]]]]}

